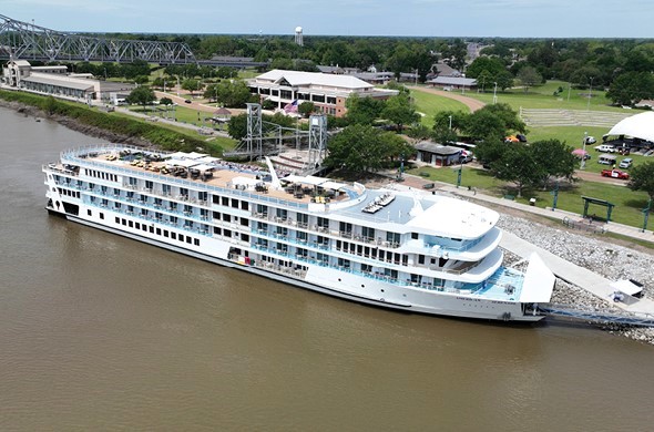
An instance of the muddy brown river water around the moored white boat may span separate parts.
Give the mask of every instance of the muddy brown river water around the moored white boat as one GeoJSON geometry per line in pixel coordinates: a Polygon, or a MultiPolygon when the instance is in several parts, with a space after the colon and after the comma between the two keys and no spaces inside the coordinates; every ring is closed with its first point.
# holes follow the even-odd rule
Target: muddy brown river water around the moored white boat
{"type": "Polygon", "coordinates": [[[654,349],[360,306],[49,216],[0,109],[0,431],[651,431],[654,349]]]}

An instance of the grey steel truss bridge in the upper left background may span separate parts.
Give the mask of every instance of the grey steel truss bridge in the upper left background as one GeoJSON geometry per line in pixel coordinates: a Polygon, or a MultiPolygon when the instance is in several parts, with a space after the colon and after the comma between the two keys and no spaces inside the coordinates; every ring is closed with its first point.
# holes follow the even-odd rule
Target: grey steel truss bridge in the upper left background
{"type": "Polygon", "coordinates": [[[63,33],[0,14],[0,58],[23,60],[197,63],[185,43],[122,40],[63,33]]]}

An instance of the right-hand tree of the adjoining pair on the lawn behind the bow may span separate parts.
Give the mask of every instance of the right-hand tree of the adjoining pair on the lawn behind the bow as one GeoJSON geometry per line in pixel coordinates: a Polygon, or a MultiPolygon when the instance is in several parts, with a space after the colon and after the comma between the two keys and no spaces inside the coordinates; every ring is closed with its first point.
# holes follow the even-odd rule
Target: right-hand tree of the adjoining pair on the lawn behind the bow
{"type": "Polygon", "coordinates": [[[548,188],[551,177],[571,178],[574,174],[576,158],[571,146],[559,140],[537,141],[529,146],[535,163],[542,168],[540,183],[543,191],[548,188]]]}

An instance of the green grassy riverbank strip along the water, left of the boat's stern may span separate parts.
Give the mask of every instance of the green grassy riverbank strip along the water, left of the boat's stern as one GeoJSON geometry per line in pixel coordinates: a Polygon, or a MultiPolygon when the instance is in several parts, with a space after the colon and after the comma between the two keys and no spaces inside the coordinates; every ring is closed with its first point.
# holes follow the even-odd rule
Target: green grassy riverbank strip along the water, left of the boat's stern
{"type": "Polygon", "coordinates": [[[55,100],[51,96],[0,90],[0,99],[32,106],[55,119],[68,120],[81,132],[92,132],[91,130],[95,128],[99,134],[104,131],[108,134],[124,137],[125,141],[144,141],[167,151],[202,150],[212,155],[221,155],[224,150],[219,142],[215,140],[206,142],[191,131],[172,130],[117,113],[105,113],[79,103],[55,100]]]}

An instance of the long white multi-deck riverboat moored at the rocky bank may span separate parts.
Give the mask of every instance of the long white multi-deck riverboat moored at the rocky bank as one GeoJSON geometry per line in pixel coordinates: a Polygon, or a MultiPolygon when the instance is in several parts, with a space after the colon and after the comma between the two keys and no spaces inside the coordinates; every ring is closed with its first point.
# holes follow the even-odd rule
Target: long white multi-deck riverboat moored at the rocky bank
{"type": "Polygon", "coordinates": [[[43,165],[47,209],[226,267],[407,312],[537,321],[554,276],[502,266],[499,214],[427,191],[126,145],[43,165]]]}

